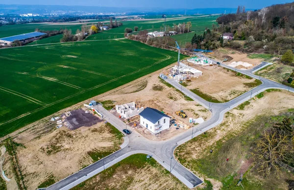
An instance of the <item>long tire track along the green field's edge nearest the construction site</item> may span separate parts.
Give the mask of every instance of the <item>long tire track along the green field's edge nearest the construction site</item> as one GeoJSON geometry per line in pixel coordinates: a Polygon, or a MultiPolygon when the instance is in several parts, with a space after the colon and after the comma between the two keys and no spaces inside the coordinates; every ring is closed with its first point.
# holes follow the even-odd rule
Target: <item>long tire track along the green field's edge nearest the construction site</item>
{"type": "Polygon", "coordinates": [[[109,83],[111,83],[111,82],[114,82],[114,81],[120,80],[121,78],[123,78],[123,77],[125,77],[125,76],[129,76],[129,75],[132,75],[132,74],[137,73],[137,72],[139,72],[139,71],[143,71],[143,70],[145,70],[145,69],[148,69],[148,68],[150,68],[150,67],[152,67],[152,66],[154,66],[154,65],[157,65],[157,64],[159,64],[159,63],[161,63],[161,62],[163,62],[163,61],[166,61],[166,60],[169,60],[169,59],[172,58],[170,55],[166,55],[166,54],[163,54],[163,55],[166,56],[165,59],[162,59],[162,60],[160,60],[160,61],[157,61],[157,62],[155,62],[155,63],[153,63],[153,64],[151,64],[151,65],[149,65],[149,66],[147,66],[147,67],[141,68],[141,69],[139,69],[139,70],[137,70],[137,71],[130,72],[130,73],[128,73],[128,74],[125,74],[125,75],[123,75],[123,76],[117,77],[117,78],[112,79],[112,80],[110,80],[110,81],[104,82],[104,83],[102,83],[102,84],[99,84],[99,85],[97,85],[97,86],[95,86],[95,87],[92,87],[92,88],[90,88],[90,89],[87,89],[87,90],[81,91],[81,92],[76,93],[76,94],[74,94],[74,95],[70,95],[70,96],[68,96],[68,97],[62,98],[62,99],[60,99],[60,100],[57,100],[57,101],[52,102],[52,103],[50,103],[50,104],[47,104],[46,106],[43,106],[43,107],[37,108],[37,109],[35,109],[34,111],[27,112],[26,114],[24,114],[24,115],[22,115],[22,116],[19,116],[19,117],[17,117],[17,118],[10,119],[10,120],[8,120],[8,121],[5,121],[5,122],[3,122],[3,123],[0,123],[0,125],[6,124],[6,123],[10,123],[10,122],[15,121],[15,120],[17,120],[17,119],[21,119],[21,118],[23,118],[23,117],[25,117],[25,116],[27,116],[27,115],[29,115],[29,114],[33,114],[33,113],[35,113],[35,112],[38,112],[38,111],[40,111],[40,110],[43,110],[43,109],[45,109],[45,108],[47,108],[47,107],[49,107],[49,106],[52,106],[52,105],[55,105],[55,104],[57,104],[57,103],[60,103],[60,102],[62,102],[62,101],[64,101],[64,100],[70,99],[70,98],[72,98],[72,97],[74,97],[74,96],[76,96],[76,95],[81,95],[81,94],[83,94],[83,93],[86,93],[86,92],[92,91],[92,90],[94,90],[94,89],[97,89],[97,88],[99,88],[99,87],[101,87],[101,86],[104,86],[104,85],[106,85],[106,84],[109,84],[109,83]]]}

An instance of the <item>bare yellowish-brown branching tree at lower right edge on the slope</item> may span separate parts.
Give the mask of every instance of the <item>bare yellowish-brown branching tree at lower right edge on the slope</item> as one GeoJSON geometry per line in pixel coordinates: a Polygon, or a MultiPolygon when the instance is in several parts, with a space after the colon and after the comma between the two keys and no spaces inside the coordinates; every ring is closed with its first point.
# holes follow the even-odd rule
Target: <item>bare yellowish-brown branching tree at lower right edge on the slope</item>
{"type": "Polygon", "coordinates": [[[287,135],[268,130],[253,148],[254,167],[266,177],[269,175],[279,177],[281,174],[279,163],[292,161],[293,158],[287,157],[291,152],[293,152],[292,143],[287,135]]]}

